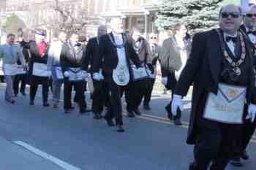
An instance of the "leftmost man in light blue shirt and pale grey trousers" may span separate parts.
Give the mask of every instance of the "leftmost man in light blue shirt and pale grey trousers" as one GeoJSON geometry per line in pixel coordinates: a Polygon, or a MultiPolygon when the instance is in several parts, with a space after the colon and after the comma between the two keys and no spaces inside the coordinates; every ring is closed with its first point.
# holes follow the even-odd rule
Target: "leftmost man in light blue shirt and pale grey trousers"
{"type": "Polygon", "coordinates": [[[26,70],[26,61],[20,50],[19,45],[15,45],[15,35],[8,34],[6,44],[0,47],[0,59],[3,60],[4,78],[7,82],[5,90],[5,100],[10,104],[14,104],[12,82],[15,74],[17,74],[17,61],[20,60],[23,70],[26,70]]]}

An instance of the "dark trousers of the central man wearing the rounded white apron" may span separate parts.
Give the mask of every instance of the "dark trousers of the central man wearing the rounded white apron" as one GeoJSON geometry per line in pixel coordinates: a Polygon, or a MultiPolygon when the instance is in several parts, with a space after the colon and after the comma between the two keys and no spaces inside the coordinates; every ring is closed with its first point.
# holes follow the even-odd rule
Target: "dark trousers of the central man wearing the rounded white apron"
{"type": "Polygon", "coordinates": [[[123,125],[123,116],[122,116],[122,104],[121,104],[121,94],[127,92],[128,96],[128,85],[119,86],[116,85],[116,82],[113,82],[112,78],[109,78],[107,81],[108,90],[110,92],[110,107],[108,112],[105,115],[107,120],[111,120],[115,117],[116,125],[123,125]]]}

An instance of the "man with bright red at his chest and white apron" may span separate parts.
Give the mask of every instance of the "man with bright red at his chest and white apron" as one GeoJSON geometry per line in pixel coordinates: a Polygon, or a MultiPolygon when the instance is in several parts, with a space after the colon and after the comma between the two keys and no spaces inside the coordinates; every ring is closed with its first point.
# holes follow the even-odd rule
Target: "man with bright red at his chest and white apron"
{"type": "Polygon", "coordinates": [[[42,105],[49,107],[48,91],[49,77],[51,72],[47,70],[48,45],[45,42],[45,32],[38,31],[35,35],[35,41],[29,42],[29,52],[31,58],[29,61],[30,77],[30,105],[34,105],[34,99],[37,94],[38,85],[42,85],[42,105]]]}

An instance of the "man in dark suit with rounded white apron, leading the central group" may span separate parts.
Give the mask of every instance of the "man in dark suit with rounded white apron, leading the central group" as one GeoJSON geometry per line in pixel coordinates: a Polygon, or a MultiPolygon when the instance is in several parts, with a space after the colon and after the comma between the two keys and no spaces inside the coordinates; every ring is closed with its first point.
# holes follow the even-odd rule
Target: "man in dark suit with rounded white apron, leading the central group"
{"type": "Polygon", "coordinates": [[[140,66],[140,60],[132,45],[127,41],[127,36],[123,34],[123,24],[119,19],[111,20],[112,32],[102,36],[99,40],[99,55],[94,59],[92,72],[94,80],[102,80],[102,74],[110,90],[110,109],[105,115],[108,125],[112,126],[113,117],[116,117],[118,132],[124,132],[122,119],[121,92],[127,88],[130,80],[131,59],[136,66],[140,66]]]}

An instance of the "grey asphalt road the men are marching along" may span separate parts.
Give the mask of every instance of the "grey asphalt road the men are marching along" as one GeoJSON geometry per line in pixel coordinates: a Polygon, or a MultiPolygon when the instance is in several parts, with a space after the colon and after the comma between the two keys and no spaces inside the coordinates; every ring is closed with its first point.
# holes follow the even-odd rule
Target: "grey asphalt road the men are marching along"
{"type": "MultiPolygon", "coordinates": [[[[46,152],[73,166],[64,166],[68,170],[187,170],[193,158],[193,148],[186,144],[190,101],[189,97],[185,101],[184,125],[177,127],[165,118],[169,96],[154,93],[151,112],[141,109],[140,117],[124,116],[126,131],[118,134],[91,113],[79,115],[78,107],[70,115],[64,114],[62,106],[42,107],[39,96],[32,107],[29,96],[18,96],[16,104],[7,104],[4,87],[0,87],[0,137],[46,152]]],[[[241,170],[255,170],[256,137],[248,151],[250,160],[241,170]]],[[[228,167],[233,169],[237,168],[228,167]]]]}

